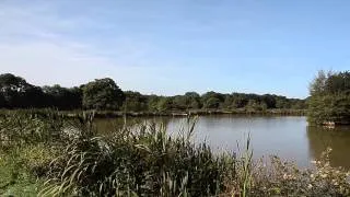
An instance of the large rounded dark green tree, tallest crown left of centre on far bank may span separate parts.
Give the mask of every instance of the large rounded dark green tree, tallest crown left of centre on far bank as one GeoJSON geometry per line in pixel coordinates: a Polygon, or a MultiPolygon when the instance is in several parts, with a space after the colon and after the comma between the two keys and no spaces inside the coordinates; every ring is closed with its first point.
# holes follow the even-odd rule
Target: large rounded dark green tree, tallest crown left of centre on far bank
{"type": "Polygon", "coordinates": [[[94,109],[119,109],[125,94],[109,78],[96,79],[83,85],[83,107],[94,109]]]}

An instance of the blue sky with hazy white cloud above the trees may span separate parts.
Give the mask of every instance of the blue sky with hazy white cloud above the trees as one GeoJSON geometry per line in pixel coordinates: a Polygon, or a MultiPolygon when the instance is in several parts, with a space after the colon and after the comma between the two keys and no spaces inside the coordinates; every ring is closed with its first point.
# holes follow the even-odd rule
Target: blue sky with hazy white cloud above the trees
{"type": "Polygon", "coordinates": [[[0,72],[144,94],[308,96],[350,69],[348,0],[0,0],[0,72]]]}

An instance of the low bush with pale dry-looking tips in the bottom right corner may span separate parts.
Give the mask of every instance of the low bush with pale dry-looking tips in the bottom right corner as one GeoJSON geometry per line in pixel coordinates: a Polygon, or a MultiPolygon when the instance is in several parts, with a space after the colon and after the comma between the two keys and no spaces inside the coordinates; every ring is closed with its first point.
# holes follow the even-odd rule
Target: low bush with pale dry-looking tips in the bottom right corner
{"type": "Polygon", "coordinates": [[[350,173],[331,167],[327,149],[315,169],[300,170],[293,163],[271,157],[270,165],[259,162],[253,170],[249,196],[349,196],[350,173]]]}

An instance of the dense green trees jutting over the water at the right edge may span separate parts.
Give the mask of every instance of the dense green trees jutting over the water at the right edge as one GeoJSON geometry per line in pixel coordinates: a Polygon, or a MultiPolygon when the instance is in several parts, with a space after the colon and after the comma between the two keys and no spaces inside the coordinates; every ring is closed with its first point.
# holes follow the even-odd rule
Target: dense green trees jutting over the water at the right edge
{"type": "Polygon", "coordinates": [[[319,71],[310,88],[308,120],[350,124],[350,72],[319,71]]]}

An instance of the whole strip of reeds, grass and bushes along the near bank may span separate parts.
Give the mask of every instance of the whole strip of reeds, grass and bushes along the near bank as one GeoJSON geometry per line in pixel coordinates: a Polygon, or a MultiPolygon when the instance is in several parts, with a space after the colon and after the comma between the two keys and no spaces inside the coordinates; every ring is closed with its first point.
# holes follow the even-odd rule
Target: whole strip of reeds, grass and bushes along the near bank
{"type": "Polygon", "coordinates": [[[350,173],[331,167],[328,149],[315,169],[277,157],[213,154],[194,144],[196,119],[182,135],[164,126],[101,135],[93,115],[63,119],[10,114],[0,118],[0,195],[14,196],[349,196],[350,173]]]}

